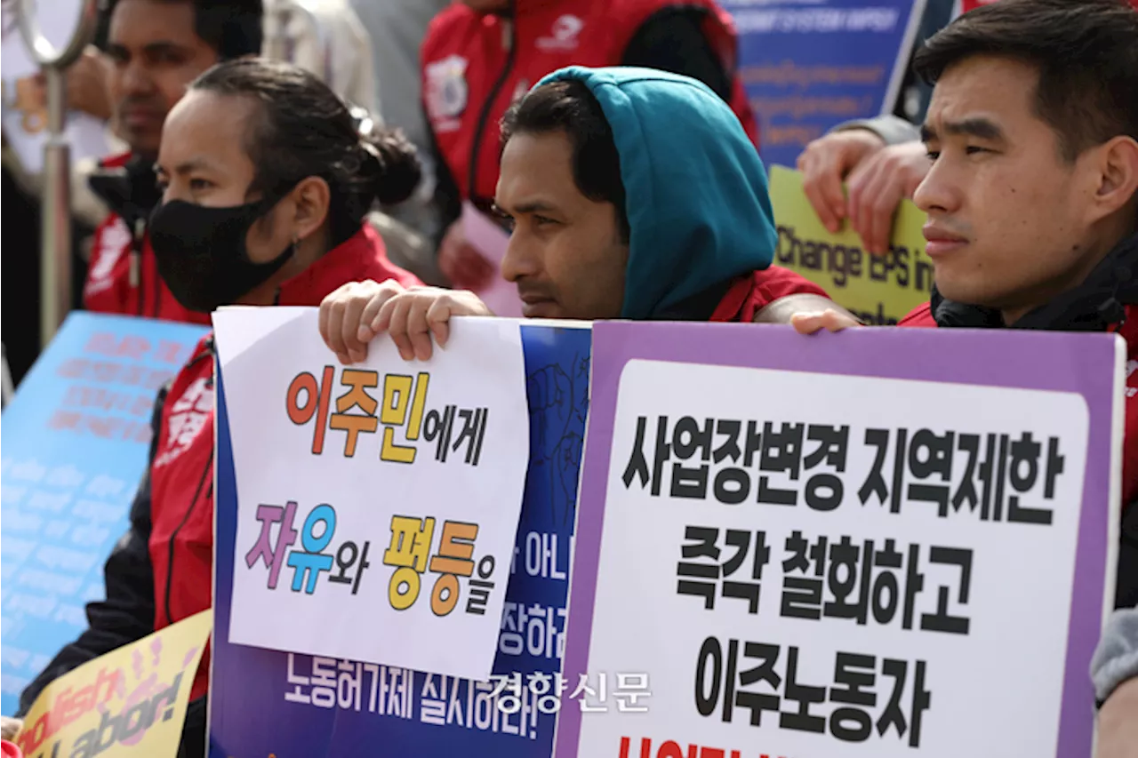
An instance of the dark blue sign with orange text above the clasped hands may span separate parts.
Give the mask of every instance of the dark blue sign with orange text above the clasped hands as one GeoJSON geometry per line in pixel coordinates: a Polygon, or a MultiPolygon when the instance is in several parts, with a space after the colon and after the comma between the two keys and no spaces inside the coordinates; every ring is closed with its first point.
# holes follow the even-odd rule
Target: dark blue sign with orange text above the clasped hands
{"type": "Polygon", "coordinates": [[[925,0],[723,0],[767,165],[831,127],[892,113],[925,0]]]}

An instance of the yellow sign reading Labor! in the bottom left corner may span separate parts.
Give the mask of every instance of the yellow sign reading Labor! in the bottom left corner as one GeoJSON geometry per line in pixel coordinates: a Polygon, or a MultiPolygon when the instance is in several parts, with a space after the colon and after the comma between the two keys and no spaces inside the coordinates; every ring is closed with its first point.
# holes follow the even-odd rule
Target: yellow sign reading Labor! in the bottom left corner
{"type": "Polygon", "coordinates": [[[16,744],[26,758],[174,758],[212,624],[203,611],[59,677],[16,744]]]}

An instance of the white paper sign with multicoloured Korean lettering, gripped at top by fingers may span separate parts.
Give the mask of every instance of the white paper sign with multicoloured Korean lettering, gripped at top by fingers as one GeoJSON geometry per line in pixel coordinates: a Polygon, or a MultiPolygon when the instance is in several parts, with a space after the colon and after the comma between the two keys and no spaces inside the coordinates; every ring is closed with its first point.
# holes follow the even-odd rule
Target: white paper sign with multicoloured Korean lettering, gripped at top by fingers
{"type": "Polygon", "coordinates": [[[230,642],[488,678],[529,456],[519,322],[341,366],[315,308],[214,314],[237,475],[230,642]]]}

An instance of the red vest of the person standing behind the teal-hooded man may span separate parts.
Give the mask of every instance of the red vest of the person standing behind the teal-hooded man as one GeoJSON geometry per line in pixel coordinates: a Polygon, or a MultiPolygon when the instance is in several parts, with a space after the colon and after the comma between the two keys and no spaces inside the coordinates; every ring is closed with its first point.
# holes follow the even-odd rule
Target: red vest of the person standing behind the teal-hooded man
{"type": "MultiPolygon", "coordinates": [[[[566,66],[617,66],[636,31],[668,7],[707,9],[704,34],[735,71],[735,26],[715,0],[516,0],[511,18],[452,5],[422,44],[427,116],[463,198],[494,197],[498,122],[543,76],[566,66]],[[473,171],[471,170],[473,166],[473,171]]],[[[739,77],[732,109],[758,145],[758,126],[739,77]]]]}

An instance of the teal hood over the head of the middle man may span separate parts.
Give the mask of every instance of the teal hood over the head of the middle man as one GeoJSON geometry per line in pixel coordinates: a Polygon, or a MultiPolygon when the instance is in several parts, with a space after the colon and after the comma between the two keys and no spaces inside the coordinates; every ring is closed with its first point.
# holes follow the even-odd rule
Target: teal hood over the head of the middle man
{"type": "Polygon", "coordinates": [[[767,174],[731,108],[694,79],[648,68],[570,66],[541,82],[584,82],[620,155],[632,230],[622,319],[770,265],[777,233],[767,174]]]}

